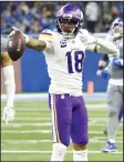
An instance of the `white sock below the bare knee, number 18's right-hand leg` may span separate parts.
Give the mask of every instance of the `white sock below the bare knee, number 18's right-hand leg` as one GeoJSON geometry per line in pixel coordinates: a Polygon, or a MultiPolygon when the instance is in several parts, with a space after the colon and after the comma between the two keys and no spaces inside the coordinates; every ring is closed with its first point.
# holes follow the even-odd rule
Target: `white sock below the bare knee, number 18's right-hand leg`
{"type": "Polygon", "coordinates": [[[73,150],[73,161],[87,161],[87,150],[75,151],[73,150]]]}

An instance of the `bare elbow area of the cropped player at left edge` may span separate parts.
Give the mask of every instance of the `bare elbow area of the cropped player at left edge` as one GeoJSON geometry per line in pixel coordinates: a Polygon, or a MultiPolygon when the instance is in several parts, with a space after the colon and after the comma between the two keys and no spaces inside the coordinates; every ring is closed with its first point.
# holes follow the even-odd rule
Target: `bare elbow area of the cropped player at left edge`
{"type": "Polygon", "coordinates": [[[12,64],[12,61],[7,51],[1,52],[1,64],[2,67],[8,67],[12,64]]]}

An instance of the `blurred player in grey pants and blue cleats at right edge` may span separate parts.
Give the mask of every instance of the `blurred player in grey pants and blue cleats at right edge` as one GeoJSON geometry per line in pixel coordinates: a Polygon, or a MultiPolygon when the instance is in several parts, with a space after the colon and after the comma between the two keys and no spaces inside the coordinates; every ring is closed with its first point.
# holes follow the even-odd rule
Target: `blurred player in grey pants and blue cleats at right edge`
{"type": "Polygon", "coordinates": [[[107,40],[115,43],[118,48],[118,52],[110,58],[108,65],[106,62],[108,57],[104,54],[103,59],[100,61],[100,69],[97,75],[106,78],[110,73],[111,79],[107,85],[107,105],[108,105],[108,124],[107,124],[107,144],[103,148],[103,152],[114,152],[117,151],[115,143],[116,130],[118,123],[123,117],[123,20],[117,18],[111,26],[110,32],[106,37],[107,40]],[[103,70],[102,70],[103,69],[103,70]]]}

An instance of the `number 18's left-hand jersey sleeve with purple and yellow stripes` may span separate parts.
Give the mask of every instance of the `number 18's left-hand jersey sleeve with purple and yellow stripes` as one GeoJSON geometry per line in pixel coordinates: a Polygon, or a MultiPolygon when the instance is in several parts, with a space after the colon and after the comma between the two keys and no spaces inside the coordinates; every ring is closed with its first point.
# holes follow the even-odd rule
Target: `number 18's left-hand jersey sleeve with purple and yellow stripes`
{"type": "Polygon", "coordinates": [[[39,36],[39,40],[45,41],[46,48],[44,49],[44,52],[46,54],[53,54],[54,53],[52,31],[43,30],[42,33],[39,36]]]}

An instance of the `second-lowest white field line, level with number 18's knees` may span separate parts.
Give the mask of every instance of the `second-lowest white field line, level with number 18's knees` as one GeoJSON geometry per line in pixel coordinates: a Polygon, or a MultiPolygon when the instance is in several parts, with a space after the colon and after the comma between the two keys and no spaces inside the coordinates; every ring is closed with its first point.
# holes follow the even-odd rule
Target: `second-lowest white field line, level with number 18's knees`
{"type": "MultiPolygon", "coordinates": [[[[1,143],[17,143],[17,144],[23,144],[23,143],[52,143],[52,140],[1,140],[1,143]]],[[[71,141],[70,141],[71,142],[71,141]]],[[[99,140],[99,139],[90,139],[91,143],[106,143],[106,140],[99,140]]],[[[122,140],[116,140],[117,143],[122,143],[122,140]]]]}

